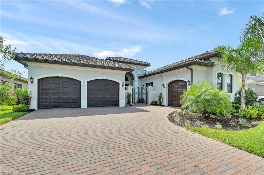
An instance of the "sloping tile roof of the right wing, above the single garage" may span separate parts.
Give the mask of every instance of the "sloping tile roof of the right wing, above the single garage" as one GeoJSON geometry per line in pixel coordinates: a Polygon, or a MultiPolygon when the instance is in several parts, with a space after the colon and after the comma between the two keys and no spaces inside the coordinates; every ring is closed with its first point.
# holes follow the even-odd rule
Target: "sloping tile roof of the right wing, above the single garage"
{"type": "Polygon", "coordinates": [[[174,67],[178,67],[178,66],[181,66],[182,64],[186,64],[186,63],[190,63],[190,62],[200,62],[200,63],[205,63],[205,64],[207,63],[207,64],[214,65],[213,62],[205,61],[203,59],[204,58],[208,58],[210,56],[214,56],[216,54],[217,54],[216,50],[207,51],[205,53],[202,53],[202,54],[199,54],[199,55],[196,55],[196,56],[187,58],[187,59],[183,59],[181,61],[177,61],[175,63],[168,64],[166,66],[159,67],[157,69],[153,69],[151,71],[145,72],[144,74],[140,75],[139,78],[143,78],[143,77],[146,77],[146,76],[150,76],[150,75],[153,75],[153,74],[157,74],[159,72],[166,72],[166,70],[169,71],[169,70],[171,70],[174,67]]]}

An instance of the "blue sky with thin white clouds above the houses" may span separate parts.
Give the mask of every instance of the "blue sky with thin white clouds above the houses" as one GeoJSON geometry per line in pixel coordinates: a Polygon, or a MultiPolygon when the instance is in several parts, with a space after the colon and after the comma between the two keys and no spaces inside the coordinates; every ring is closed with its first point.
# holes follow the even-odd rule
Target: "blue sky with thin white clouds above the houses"
{"type": "MultiPolygon", "coordinates": [[[[155,69],[237,46],[264,1],[1,1],[1,36],[17,52],[121,56],[155,69]]],[[[25,69],[10,62],[8,69],[25,69]]],[[[27,72],[23,74],[27,77],[27,72]]]]}

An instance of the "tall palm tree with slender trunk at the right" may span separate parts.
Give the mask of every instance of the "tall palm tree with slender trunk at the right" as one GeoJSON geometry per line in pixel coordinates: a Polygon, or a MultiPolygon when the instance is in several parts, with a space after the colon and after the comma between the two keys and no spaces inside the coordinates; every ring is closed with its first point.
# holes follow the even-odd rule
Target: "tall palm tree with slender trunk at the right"
{"type": "Polygon", "coordinates": [[[245,79],[248,73],[261,75],[264,72],[264,14],[250,16],[241,30],[239,46],[216,46],[221,63],[226,71],[236,71],[242,75],[241,107],[245,109],[245,79]]]}

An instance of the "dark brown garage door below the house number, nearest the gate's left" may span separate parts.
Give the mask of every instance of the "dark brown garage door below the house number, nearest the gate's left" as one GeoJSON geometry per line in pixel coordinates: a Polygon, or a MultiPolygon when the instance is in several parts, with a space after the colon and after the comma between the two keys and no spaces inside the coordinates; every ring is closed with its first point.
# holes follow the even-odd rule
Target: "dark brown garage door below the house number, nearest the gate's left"
{"type": "Polygon", "coordinates": [[[119,83],[96,79],[87,82],[87,107],[119,106],[119,83]]]}

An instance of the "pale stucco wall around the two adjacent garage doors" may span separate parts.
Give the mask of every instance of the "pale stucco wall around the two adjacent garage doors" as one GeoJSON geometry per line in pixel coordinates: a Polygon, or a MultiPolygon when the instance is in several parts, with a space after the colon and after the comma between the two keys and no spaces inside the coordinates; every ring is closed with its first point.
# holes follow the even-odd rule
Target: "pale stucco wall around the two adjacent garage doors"
{"type": "Polygon", "coordinates": [[[37,79],[51,76],[62,76],[74,78],[81,81],[81,108],[87,107],[87,81],[93,79],[110,79],[120,83],[119,106],[125,106],[125,71],[89,68],[80,66],[69,66],[49,63],[27,62],[28,77],[34,78],[34,83],[28,83],[29,91],[32,91],[30,109],[37,109],[37,79]]]}

